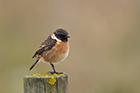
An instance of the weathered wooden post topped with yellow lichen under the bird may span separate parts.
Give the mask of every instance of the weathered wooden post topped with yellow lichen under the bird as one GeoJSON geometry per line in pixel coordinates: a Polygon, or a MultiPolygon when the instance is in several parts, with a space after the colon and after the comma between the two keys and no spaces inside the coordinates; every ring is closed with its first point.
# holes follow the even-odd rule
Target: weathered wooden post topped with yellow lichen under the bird
{"type": "Polygon", "coordinates": [[[24,93],[67,93],[66,74],[33,74],[24,78],[24,93]]]}

